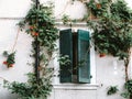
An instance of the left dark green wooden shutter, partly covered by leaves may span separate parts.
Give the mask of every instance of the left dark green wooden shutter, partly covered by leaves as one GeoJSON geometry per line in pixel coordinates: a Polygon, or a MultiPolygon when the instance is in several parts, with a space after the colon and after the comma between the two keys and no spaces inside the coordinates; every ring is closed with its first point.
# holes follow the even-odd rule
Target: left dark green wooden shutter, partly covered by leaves
{"type": "Polygon", "coordinates": [[[73,36],[72,30],[63,30],[59,32],[59,52],[61,55],[68,55],[69,65],[61,66],[61,82],[72,82],[73,75],[73,36]]]}

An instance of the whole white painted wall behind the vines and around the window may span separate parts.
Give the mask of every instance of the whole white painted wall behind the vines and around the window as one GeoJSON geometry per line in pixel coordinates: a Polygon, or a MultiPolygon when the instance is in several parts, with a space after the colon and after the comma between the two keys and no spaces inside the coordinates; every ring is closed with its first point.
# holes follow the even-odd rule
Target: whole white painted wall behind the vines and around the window
{"type": "MultiPolygon", "coordinates": [[[[45,2],[45,0],[40,0],[45,2]]],[[[47,1],[47,0],[46,0],[47,1]]],[[[86,9],[84,4],[76,1],[72,4],[70,0],[52,0],[55,2],[54,14],[56,19],[66,13],[73,19],[80,19],[84,16],[86,9]],[[65,11],[64,11],[65,10],[65,11]]],[[[127,0],[131,7],[131,0],[127,0]]],[[[2,62],[3,51],[11,51],[14,44],[14,38],[18,33],[16,23],[20,20],[14,19],[1,19],[1,18],[23,18],[31,6],[30,0],[0,0],[0,77],[7,80],[13,81],[26,81],[25,74],[32,72],[32,67],[26,63],[32,63],[32,58],[29,56],[31,52],[31,36],[23,32],[19,33],[18,43],[15,46],[16,56],[15,65],[13,68],[7,68],[2,62]],[[10,9],[9,9],[10,8],[10,9]]],[[[66,26],[58,26],[61,30],[66,26]]],[[[73,29],[85,29],[85,26],[73,26],[73,29]]],[[[94,55],[94,53],[91,53],[94,55]]],[[[94,56],[95,57],[95,56],[94,56]]],[[[113,66],[116,58],[111,56],[99,57],[96,54],[95,59],[96,67],[92,68],[92,84],[90,85],[62,85],[58,82],[58,77],[54,78],[54,88],[50,99],[123,99],[120,97],[121,91],[118,95],[108,97],[106,95],[107,87],[111,85],[118,85],[119,88],[123,89],[124,82],[124,67],[123,63],[117,61],[117,67],[113,66]],[[99,87],[97,87],[99,85],[99,87]]],[[[57,63],[55,63],[57,65],[57,63]]],[[[0,84],[2,84],[0,78],[0,84]]],[[[15,95],[11,95],[7,89],[0,86],[0,99],[16,99],[15,95]]]]}

